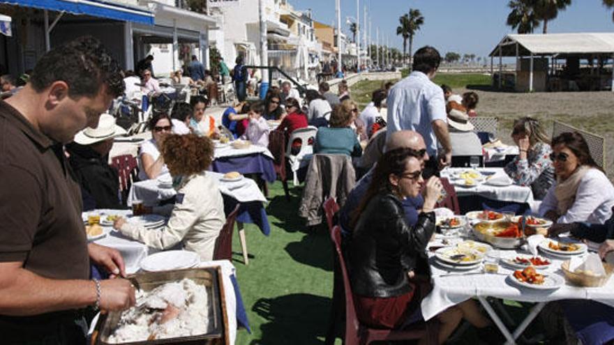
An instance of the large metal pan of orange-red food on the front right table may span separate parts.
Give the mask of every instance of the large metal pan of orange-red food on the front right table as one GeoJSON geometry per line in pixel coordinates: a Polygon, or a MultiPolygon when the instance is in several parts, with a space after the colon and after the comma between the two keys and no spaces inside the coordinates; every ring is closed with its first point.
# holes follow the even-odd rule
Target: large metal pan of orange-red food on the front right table
{"type": "Polygon", "coordinates": [[[473,233],[479,240],[501,248],[514,249],[522,244],[522,233],[515,222],[479,222],[473,226],[473,233]]]}

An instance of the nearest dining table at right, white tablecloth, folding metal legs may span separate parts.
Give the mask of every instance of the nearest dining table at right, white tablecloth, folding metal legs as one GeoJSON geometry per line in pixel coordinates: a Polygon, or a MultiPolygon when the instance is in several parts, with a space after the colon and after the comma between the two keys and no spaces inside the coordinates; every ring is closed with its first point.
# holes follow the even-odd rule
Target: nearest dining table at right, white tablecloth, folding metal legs
{"type": "MultiPolygon", "coordinates": [[[[493,248],[491,251],[496,253],[499,261],[496,273],[486,273],[484,263],[464,270],[458,270],[455,266],[443,265],[435,257],[437,249],[458,245],[458,243],[463,243],[466,240],[479,243],[479,240],[473,235],[472,221],[463,216],[460,218],[462,227],[437,233],[428,244],[427,253],[433,290],[421,301],[421,312],[425,320],[428,321],[445,309],[458,305],[465,300],[476,298],[507,339],[506,344],[516,344],[516,339],[523,334],[527,326],[548,302],[571,299],[594,300],[614,307],[614,294],[612,293],[614,291],[614,279],[608,279],[606,284],[600,287],[574,286],[564,279],[561,265],[571,256],[553,255],[539,250],[539,256],[550,261],[550,265],[544,270],[538,270],[538,272],[544,275],[557,276],[557,280],[564,282],[560,288],[537,289],[516,284],[513,273],[518,270],[518,267],[507,265],[506,262],[517,256],[532,256],[530,247],[527,245],[528,241],[515,249],[493,248]],[[525,319],[516,325],[516,329],[510,330],[502,321],[502,316],[505,314],[504,310],[500,309],[499,314],[495,312],[492,305],[493,299],[533,302],[534,305],[525,319]]],[[[535,238],[535,240],[541,241],[542,238],[535,238]]],[[[531,240],[531,242],[535,243],[535,240],[531,240]]],[[[548,239],[544,238],[543,240],[548,239]]],[[[588,248],[589,251],[595,249],[594,246],[588,248]]]]}

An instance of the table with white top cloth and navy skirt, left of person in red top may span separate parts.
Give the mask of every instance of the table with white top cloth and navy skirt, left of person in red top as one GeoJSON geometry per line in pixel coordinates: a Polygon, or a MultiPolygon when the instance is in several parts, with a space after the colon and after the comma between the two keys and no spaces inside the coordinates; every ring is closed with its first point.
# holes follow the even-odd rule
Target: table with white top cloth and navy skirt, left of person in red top
{"type": "Polygon", "coordinates": [[[274,183],[277,179],[273,165],[273,155],[268,148],[250,145],[248,148],[232,148],[225,146],[216,148],[211,170],[227,173],[239,171],[241,174],[259,174],[262,180],[274,183]]]}

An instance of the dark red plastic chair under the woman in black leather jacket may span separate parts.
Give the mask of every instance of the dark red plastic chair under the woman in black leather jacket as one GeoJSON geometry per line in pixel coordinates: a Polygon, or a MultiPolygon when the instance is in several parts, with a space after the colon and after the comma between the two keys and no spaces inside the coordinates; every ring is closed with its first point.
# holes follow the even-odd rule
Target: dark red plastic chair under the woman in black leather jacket
{"type": "Polygon", "coordinates": [[[371,342],[398,341],[427,338],[428,344],[437,344],[437,323],[417,323],[414,327],[403,330],[390,330],[369,328],[362,325],[356,315],[354,307],[354,295],[350,285],[350,277],[341,251],[341,228],[336,226],[331,231],[331,240],[335,245],[337,259],[343,275],[343,287],[345,288],[345,345],[366,345],[371,342]]]}

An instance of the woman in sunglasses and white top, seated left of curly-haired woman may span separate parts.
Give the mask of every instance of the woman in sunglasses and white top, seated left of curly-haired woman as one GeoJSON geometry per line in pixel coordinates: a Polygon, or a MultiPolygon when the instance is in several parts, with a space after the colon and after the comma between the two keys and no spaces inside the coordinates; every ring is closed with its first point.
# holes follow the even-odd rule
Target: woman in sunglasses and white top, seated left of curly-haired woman
{"type": "Polygon", "coordinates": [[[141,145],[138,176],[141,181],[158,178],[158,176],[168,173],[164,158],[160,155],[160,146],[164,143],[167,135],[172,132],[171,118],[165,113],[153,113],[149,118],[147,128],[151,130],[152,138],[141,145]]]}

